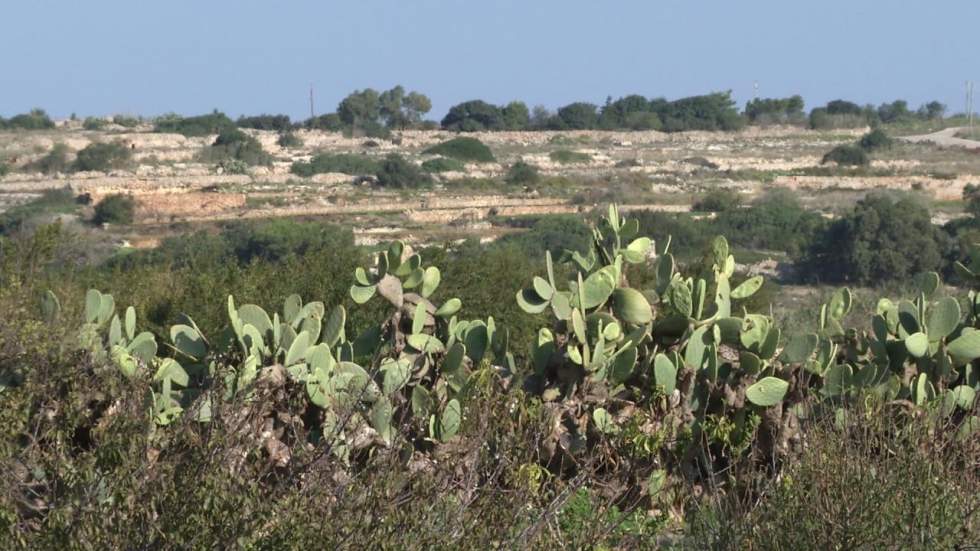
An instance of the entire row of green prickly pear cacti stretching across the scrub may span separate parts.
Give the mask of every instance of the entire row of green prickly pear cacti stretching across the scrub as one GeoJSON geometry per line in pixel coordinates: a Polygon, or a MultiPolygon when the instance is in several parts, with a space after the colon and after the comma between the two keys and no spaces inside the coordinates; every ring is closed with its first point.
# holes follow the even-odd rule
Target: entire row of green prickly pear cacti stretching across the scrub
{"type": "MultiPolygon", "coordinates": [[[[685,276],[669,240],[658,248],[638,231],[635,220],[610,207],[587,254],[555,263],[546,253],[545,274],[517,293],[520,308],[549,318],[523,382],[552,413],[553,451],[575,455],[588,449],[590,435],[613,433],[629,434],[654,454],[669,432],[744,450],[765,430],[772,445],[807,397],[832,408],[906,400],[955,416],[965,433],[980,429],[972,415],[980,391],[975,291],[964,309],[940,296],[938,275],[923,274],[913,300],[882,299],[871,331],[861,333],[845,329],[852,297],[840,289],[822,306],[814,333],[787,338],[770,317],[737,312],[733,301],[754,295],[763,279],[733,288],[735,260],[724,238],[714,239],[685,276]],[[649,289],[630,286],[631,266],[639,265],[656,275],[649,289]]],[[[980,286],[980,261],[957,270],[980,286]]],[[[270,317],[229,296],[226,330],[208,339],[185,316],[158,356],[156,338],[137,333],[132,307],[120,317],[111,295],[91,290],[78,342],[126,377],[151,370],[158,425],[194,403],[195,419],[209,421],[212,400],[249,401],[263,377],[296,385],[320,412],[316,432],[330,435],[333,453],[344,459],[399,435],[446,442],[460,430],[480,373],[518,373],[506,330],[493,318],[460,320],[458,298],[434,302],[438,268],[423,266],[403,243],[379,251],[354,281],[356,304],[378,297],[389,307],[356,336],[348,335],[343,306],[328,313],[322,302],[293,295],[270,317]],[[217,393],[208,392],[213,382],[217,393]]],[[[50,322],[61,316],[53,293],[42,297],[41,313],[50,322]]]]}

